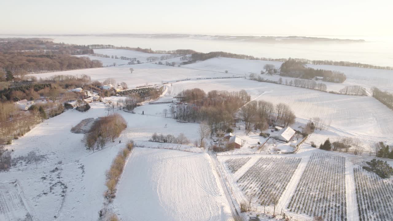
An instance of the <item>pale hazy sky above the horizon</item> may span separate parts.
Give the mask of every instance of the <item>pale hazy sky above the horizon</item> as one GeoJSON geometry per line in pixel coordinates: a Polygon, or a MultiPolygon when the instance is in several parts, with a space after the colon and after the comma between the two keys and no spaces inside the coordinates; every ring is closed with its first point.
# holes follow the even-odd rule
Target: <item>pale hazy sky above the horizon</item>
{"type": "Polygon", "coordinates": [[[0,0],[0,34],[393,36],[392,0],[0,0]]]}

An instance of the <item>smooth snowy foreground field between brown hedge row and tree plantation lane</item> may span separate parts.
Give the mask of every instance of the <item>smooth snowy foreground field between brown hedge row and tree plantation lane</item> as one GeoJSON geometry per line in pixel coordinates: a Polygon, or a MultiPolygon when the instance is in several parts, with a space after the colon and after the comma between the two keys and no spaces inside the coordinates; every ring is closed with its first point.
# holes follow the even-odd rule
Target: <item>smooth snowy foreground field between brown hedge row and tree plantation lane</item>
{"type": "Polygon", "coordinates": [[[230,209],[206,153],[135,148],[114,207],[122,220],[227,220],[230,209]]]}

